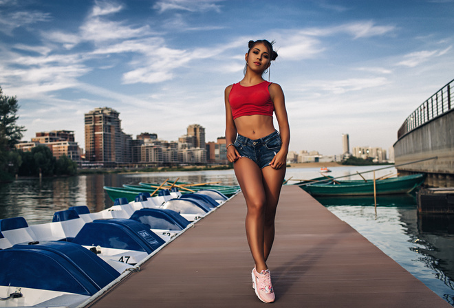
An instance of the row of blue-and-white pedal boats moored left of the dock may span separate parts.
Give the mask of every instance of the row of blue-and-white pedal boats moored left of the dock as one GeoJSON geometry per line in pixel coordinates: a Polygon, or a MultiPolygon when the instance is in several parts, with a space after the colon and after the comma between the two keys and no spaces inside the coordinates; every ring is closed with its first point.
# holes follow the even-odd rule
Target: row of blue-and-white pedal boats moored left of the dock
{"type": "Polygon", "coordinates": [[[89,212],[73,206],[51,223],[0,220],[0,307],[79,307],[105,292],[228,200],[216,190],[140,192],[89,212]]]}

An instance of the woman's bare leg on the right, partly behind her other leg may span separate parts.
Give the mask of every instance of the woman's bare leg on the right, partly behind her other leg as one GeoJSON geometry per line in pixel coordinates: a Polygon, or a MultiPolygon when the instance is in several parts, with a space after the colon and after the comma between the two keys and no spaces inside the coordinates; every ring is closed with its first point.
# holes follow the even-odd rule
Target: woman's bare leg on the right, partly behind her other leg
{"type": "Polygon", "coordinates": [[[263,241],[263,255],[265,261],[270,255],[272,243],[274,242],[274,219],[276,217],[277,203],[285,177],[285,166],[274,169],[266,166],[261,169],[263,188],[266,193],[265,230],[263,241]]]}

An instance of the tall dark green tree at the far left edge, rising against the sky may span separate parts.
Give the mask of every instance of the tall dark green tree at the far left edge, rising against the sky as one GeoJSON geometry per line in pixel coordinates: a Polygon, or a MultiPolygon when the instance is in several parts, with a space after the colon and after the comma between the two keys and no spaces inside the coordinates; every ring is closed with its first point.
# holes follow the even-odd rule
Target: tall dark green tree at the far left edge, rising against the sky
{"type": "Polygon", "coordinates": [[[19,115],[19,104],[16,97],[9,97],[3,95],[3,90],[0,87],[0,149],[10,151],[14,149],[23,137],[22,133],[25,131],[24,126],[16,124],[19,115]]]}

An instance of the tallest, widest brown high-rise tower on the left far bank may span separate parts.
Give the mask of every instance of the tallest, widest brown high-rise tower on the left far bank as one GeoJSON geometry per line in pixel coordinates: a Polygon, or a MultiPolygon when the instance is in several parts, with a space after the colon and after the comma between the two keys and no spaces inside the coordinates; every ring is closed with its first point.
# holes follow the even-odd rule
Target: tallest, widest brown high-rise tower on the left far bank
{"type": "Polygon", "coordinates": [[[95,108],[85,113],[85,159],[104,166],[131,162],[131,137],[121,130],[118,113],[109,107],[95,108]],[[128,137],[129,136],[129,137],[128,137]],[[129,146],[127,146],[129,144],[129,146]]]}

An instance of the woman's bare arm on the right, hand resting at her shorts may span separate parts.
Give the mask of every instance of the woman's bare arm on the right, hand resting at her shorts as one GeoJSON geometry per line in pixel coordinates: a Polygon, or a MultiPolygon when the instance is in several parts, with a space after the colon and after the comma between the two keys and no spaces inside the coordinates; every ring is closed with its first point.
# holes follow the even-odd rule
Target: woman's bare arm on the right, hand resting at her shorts
{"type": "Polygon", "coordinates": [[[274,156],[270,165],[272,168],[279,169],[287,164],[288,145],[290,144],[290,126],[288,124],[287,110],[285,109],[285,98],[280,85],[272,83],[270,85],[270,96],[274,103],[274,113],[279,124],[281,134],[281,150],[274,156]]]}

